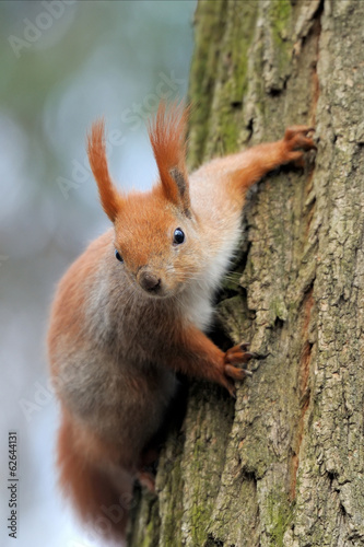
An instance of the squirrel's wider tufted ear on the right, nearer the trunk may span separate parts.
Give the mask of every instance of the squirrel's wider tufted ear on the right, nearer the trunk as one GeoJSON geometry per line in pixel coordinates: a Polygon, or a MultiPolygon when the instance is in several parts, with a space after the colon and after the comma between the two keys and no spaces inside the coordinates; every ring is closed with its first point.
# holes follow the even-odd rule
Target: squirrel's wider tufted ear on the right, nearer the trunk
{"type": "Polygon", "coordinates": [[[190,216],[189,185],[186,170],[186,125],[188,108],[181,103],[168,109],[161,101],[149,126],[149,137],[161,176],[165,197],[190,216]]]}

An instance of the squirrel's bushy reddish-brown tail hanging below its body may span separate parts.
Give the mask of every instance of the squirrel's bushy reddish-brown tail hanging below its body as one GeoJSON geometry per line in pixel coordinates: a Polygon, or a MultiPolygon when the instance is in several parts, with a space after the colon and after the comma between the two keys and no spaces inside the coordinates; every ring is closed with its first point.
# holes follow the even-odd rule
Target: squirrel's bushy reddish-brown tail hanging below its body
{"type": "MultiPolygon", "coordinates": [[[[110,454],[108,454],[110,456],[110,454]]],[[[80,431],[63,412],[58,434],[60,486],[87,525],[89,534],[122,545],[132,501],[132,476],[113,464],[99,464],[105,446],[80,431]]]]}

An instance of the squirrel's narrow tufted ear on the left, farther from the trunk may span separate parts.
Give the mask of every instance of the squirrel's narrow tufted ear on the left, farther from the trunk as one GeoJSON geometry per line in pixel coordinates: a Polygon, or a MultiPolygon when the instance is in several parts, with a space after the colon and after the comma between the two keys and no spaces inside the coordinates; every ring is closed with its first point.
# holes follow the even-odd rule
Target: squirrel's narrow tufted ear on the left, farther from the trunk
{"type": "Polygon", "coordinates": [[[87,137],[87,154],[92,172],[98,186],[98,194],[104,211],[110,221],[115,222],[117,214],[121,210],[124,200],[108,172],[104,133],[104,120],[101,119],[95,121],[87,137]]]}

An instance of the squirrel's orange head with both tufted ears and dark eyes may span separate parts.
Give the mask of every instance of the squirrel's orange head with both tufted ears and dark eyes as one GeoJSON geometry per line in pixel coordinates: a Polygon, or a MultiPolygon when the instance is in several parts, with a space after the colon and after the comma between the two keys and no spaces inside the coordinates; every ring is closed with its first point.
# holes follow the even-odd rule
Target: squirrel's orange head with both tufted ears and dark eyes
{"type": "Polygon", "coordinates": [[[120,194],[107,166],[104,124],[89,137],[89,159],[101,202],[115,228],[115,257],[151,296],[174,296],[198,275],[198,220],[190,207],[185,164],[187,110],[160,104],[149,127],[160,181],[149,193],[120,194]]]}

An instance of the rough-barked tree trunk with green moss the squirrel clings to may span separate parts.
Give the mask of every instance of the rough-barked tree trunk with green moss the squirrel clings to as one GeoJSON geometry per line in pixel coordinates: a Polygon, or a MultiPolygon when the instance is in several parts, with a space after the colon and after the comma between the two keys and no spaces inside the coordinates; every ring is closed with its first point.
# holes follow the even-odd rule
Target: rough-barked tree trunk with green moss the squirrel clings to
{"type": "Polygon", "coordinates": [[[132,547],[364,545],[364,2],[201,0],[189,162],[316,126],[253,191],[218,305],[266,354],[234,401],[192,382],[132,547]]]}

